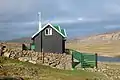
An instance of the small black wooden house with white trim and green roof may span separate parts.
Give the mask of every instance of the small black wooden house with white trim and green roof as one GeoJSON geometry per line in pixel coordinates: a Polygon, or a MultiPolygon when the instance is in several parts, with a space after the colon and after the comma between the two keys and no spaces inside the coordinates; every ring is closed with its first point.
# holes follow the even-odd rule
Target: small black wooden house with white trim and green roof
{"type": "Polygon", "coordinates": [[[66,38],[65,29],[48,23],[32,36],[32,46],[36,52],[64,53],[66,38]]]}

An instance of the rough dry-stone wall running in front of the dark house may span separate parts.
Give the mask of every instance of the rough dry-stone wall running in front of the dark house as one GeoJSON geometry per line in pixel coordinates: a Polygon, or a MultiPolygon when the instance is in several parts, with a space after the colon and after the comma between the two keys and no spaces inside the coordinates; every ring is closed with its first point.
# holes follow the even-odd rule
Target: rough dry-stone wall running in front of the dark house
{"type": "Polygon", "coordinates": [[[18,59],[24,62],[33,64],[48,65],[53,68],[70,70],[72,69],[71,55],[55,54],[55,53],[40,53],[31,50],[24,51],[18,48],[4,48],[2,56],[12,59],[18,59]]]}

